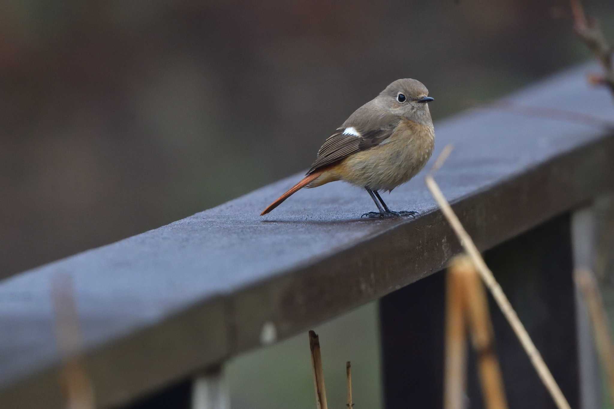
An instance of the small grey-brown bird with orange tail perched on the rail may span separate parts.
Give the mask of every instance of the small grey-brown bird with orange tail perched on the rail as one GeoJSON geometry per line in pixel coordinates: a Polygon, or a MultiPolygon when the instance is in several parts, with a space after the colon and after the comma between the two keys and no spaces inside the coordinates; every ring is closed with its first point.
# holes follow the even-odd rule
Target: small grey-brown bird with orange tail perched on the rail
{"type": "Polygon", "coordinates": [[[316,188],[336,180],[367,189],[379,212],[362,217],[417,215],[390,210],[378,192],[392,191],[408,182],[429,160],[435,145],[430,101],[429,90],[417,80],[404,78],[388,85],[325,140],[305,178],[260,215],[266,215],[301,188],[316,188]]]}

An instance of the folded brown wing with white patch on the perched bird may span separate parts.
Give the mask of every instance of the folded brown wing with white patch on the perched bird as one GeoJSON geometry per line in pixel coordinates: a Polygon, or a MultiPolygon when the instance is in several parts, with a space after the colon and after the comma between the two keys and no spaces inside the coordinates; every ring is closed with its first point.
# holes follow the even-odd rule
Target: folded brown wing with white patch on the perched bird
{"type": "Polygon", "coordinates": [[[373,115],[361,117],[356,113],[348,118],[342,128],[338,128],[334,134],[324,141],[307,174],[313,173],[322,166],[340,161],[352,155],[352,153],[379,145],[392,135],[399,122],[399,118],[390,115],[377,115],[373,118],[373,115]],[[363,118],[363,120],[352,120],[353,117],[357,116],[363,118]]]}

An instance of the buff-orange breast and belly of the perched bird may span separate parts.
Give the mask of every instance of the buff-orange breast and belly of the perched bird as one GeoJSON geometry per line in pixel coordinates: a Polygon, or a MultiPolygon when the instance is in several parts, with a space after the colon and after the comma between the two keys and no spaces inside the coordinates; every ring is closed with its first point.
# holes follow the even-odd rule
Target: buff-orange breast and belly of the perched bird
{"type": "Polygon", "coordinates": [[[390,191],[418,174],[433,153],[433,127],[407,121],[399,128],[386,143],[341,161],[335,169],[338,177],[352,185],[390,191]]]}

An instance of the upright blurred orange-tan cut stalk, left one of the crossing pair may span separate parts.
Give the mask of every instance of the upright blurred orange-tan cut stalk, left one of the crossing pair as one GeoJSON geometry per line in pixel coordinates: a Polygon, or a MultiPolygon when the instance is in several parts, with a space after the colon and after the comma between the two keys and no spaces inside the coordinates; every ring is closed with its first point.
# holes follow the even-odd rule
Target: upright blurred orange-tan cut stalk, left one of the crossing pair
{"type": "Polygon", "coordinates": [[[467,339],[465,338],[463,291],[461,272],[457,262],[453,261],[446,279],[444,409],[463,409],[465,407],[467,339]]]}

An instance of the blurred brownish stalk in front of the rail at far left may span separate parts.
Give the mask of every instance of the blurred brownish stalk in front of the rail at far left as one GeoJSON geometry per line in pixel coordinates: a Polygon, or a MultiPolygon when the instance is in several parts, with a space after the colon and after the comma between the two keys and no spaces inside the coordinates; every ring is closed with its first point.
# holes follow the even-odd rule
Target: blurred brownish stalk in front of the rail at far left
{"type": "Polygon", "coordinates": [[[62,384],[66,394],[66,407],[93,409],[93,388],[79,355],[82,341],[71,276],[58,274],[53,277],[51,296],[55,308],[58,349],[64,359],[62,384]]]}

